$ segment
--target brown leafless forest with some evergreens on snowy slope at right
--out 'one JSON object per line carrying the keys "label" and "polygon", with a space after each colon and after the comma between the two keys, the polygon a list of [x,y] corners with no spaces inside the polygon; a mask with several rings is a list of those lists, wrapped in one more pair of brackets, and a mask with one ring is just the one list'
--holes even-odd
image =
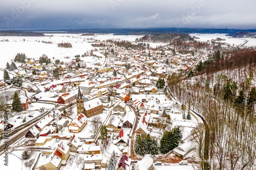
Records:
{"label": "brown leafless forest with some evergreens on snowy slope at right", "polygon": [[[201,66],[190,80],[182,75],[168,78],[174,98],[184,105],[189,102],[208,124],[209,137],[203,124],[191,133],[191,140],[198,145],[200,169],[205,169],[205,160],[209,169],[255,169],[256,52],[217,52]],[[204,156],[206,137],[208,159]]]}

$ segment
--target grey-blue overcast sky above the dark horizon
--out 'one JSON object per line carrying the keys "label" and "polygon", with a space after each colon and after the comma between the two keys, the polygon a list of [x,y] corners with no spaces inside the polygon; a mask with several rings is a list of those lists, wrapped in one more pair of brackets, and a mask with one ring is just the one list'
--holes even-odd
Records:
{"label": "grey-blue overcast sky above the dark horizon", "polygon": [[0,30],[256,29],[255,0],[1,0]]}

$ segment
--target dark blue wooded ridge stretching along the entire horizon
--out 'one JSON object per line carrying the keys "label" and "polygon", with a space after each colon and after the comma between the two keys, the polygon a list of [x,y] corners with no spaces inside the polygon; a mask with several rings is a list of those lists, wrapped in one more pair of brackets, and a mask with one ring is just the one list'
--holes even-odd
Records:
{"label": "dark blue wooded ridge stretching along the entire horizon", "polygon": [[[246,32],[256,33],[256,30],[236,30],[236,29],[194,29],[194,28],[125,28],[125,29],[79,29],[79,30],[27,30],[27,31],[0,31],[0,36],[44,36],[47,34],[81,34],[83,36],[94,34],[114,34],[114,35],[147,35],[147,34],[228,34],[230,36]],[[242,36],[242,35],[239,35]],[[252,35],[250,35],[252,36]]]}

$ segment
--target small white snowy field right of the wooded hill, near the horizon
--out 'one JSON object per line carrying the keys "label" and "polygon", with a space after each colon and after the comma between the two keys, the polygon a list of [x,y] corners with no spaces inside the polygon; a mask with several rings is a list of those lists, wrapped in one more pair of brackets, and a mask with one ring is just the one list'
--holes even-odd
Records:
{"label": "small white snowy field right of the wooded hill, near the horizon", "polygon": [[200,39],[196,39],[197,41],[211,41],[212,39],[216,38],[222,38],[226,39],[224,41],[219,41],[219,42],[226,42],[229,43],[231,46],[234,44],[234,46],[242,45],[243,43],[248,41],[245,46],[256,46],[256,39],[255,38],[232,38],[230,36],[227,36],[227,34],[189,34],[191,37],[195,36]]}

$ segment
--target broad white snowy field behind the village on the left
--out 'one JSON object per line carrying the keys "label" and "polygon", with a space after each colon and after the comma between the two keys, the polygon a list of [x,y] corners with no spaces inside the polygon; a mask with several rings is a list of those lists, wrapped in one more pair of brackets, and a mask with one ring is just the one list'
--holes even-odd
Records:
{"label": "broad white snowy field behind the village on the left", "polygon": [[[50,34],[46,34],[50,35]],[[75,55],[82,55],[87,51],[94,49],[87,38],[95,36],[81,36],[81,34],[51,34],[53,37],[15,37],[15,36],[1,36],[0,37],[0,57],[2,62],[0,68],[6,67],[6,62],[11,62],[17,53],[25,53],[28,58],[39,58],[42,54],[46,54],[50,59],[60,59],[60,61],[68,62],[70,59],[64,57],[74,57]],[[135,35],[96,35],[94,39],[97,40],[127,40],[135,41],[136,38],[142,36]],[[8,39],[7,41],[1,41]],[[41,41],[52,42],[51,44],[43,43]],[[72,48],[58,47],[57,44],[61,42],[69,42]],[[94,52],[95,55],[103,56],[99,52]],[[102,58],[103,60],[104,58]],[[84,61],[91,61],[90,58],[84,58]]]}

